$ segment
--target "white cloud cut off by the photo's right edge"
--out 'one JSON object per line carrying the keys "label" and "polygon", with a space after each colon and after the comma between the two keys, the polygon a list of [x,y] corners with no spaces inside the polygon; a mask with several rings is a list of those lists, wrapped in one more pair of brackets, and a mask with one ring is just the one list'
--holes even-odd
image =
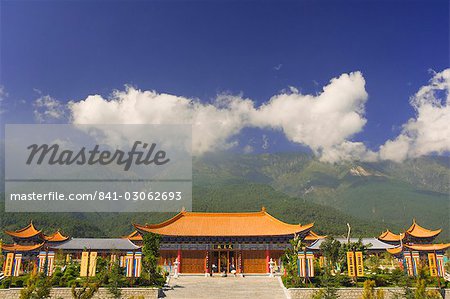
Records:
{"label": "white cloud cut off by the photo's right edge", "polygon": [[428,154],[450,152],[450,69],[433,73],[428,85],[411,97],[416,115],[402,132],[380,147],[383,160],[403,161]]}

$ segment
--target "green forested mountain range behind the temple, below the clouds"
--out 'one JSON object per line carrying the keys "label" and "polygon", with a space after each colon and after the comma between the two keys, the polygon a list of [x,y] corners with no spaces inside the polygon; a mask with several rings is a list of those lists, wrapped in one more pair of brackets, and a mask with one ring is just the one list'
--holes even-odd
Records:
{"label": "green forested mountain range behind the temple, below the clouds", "polygon": [[[257,211],[265,206],[290,223],[314,222],[327,235],[376,236],[406,229],[415,218],[442,228],[450,240],[450,160],[423,157],[403,163],[324,163],[309,154],[230,153],[193,159],[193,210]],[[3,201],[0,202],[3,205]],[[5,213],[0,227],[17,229],[30,219],[46,232],[77,237],[117,237],[132,223],[155,223],[174,213]],[[5,237],[3,235],[3,237]]]}

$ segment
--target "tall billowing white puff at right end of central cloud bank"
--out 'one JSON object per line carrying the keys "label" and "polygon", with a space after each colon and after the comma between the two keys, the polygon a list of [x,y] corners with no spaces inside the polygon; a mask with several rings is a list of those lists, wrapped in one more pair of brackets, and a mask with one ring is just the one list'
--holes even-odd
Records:
{"label": "tall billowing white puff at right end of central cloud bank", "polygon": [[307,145],[333,162],[331,157],[336,155],[329,152],[337,147],[350,150],[348,139],[364,127],[367,98],[362,74],[343,74],[332,79],[317,96],[291,89],[291,93],[272,97],[254,115],[254,125],[281,129],[289,140]]}

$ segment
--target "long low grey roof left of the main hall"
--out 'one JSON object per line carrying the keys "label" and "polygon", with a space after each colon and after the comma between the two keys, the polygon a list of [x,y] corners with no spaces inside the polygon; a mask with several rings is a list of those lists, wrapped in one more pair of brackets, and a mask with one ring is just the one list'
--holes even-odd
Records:
{"label": "long low grey roof left of the main hall", "polygon": [[62,244],[53,245],[51,248],[62,250],[136,250],[141,247],[123,238],[73,238]]}

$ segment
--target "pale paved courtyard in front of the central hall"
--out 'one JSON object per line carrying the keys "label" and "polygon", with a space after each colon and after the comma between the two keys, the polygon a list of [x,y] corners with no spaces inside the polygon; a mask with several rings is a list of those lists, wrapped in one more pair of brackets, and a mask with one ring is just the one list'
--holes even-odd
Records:
{"label": "pale paved courtyard in front of the central hall", "polygon": [[163,298],[286,298],[276,277],[181,276],[169,284],[172,289],[164,290]]}

